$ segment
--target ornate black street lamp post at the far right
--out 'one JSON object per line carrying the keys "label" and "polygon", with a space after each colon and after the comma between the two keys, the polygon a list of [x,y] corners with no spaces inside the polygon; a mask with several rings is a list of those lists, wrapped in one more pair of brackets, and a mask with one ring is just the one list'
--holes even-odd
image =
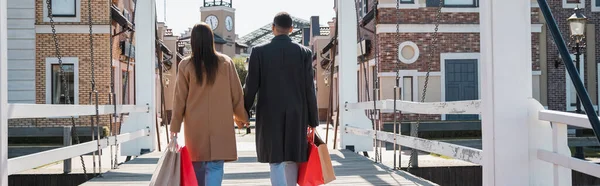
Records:
{"label": "ornate black street lamp post at the far right", "polygon": [[[573,43],[570,44],[571,46],[573,46],[573,50],[575,50],[575,67],[577,68],[577,78],[581,78],[580,74],[582,73],[580,71],[580,56],[582,49],[585,48],[585,43],[583,42],[583,39],[585,38],[585,26],[587,23],[587,17],[585,17],[585,15],[581,13],[581,11],[582,9],[575,8],[575,13],[573,13],[573,15],[571,15],[571,17],[567,19],[567,21],[569,22],[569,30],[571,31],[571,39],[575,45],[573,46]],[[583,111],[581,110],[581,100],[579,99],[578,95],[575,105],[575,112],[578,114],[582,114]],[[582,133],[583,131],[581,129],[575,129],[575,136],[580,137]],[[575,148],[575,157],[579,159],[585,158],[585,155],[583,153],[583,147]]]}

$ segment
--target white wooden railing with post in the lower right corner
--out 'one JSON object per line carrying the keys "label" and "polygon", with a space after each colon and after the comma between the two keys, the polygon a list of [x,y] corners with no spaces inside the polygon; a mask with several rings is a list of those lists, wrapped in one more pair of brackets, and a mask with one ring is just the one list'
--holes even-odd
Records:
{"label": "white wooden railing with post in the lower right corner", "polygon": [[[569,170],[576,170],[584,174],[595,176],[600,178],[600,165],[592,162],[573,158],[559,154],[558,151],[561,145],[567,143],[567,126],[576,126],[586,129],[591,129],[590,121],[588,117],[583,114],[542,110],[539,112],[539,119],[543,121],[549,121],[552,124],[552,151],[541,150],[537,151],[537,158],[554,164],[554,178],[555,185],[559,183],[561,175],[559,175],[560,167],[567,168]],[[560,167],[559,167],[560,166]],[[570,180],[569,180],[570,181]]]}

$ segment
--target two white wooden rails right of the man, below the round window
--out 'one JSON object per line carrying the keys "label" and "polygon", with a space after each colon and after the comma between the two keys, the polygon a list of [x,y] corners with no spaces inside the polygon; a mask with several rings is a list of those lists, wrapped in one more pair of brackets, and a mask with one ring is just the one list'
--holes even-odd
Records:
{"label": "two white wooden rails right of the man, below the round window", "polygon": [[[415,114],[480,114],[479,107],[481,101],[456,101],[456,102],[409,102],[396,101],[396,109],[402,112]],[[394,109],[394,100],[377,101],[376,108],[381,110]],[[348,103],[346,109],[373,109],[373,102]],[[460,159],[463,161],[481,164],[482,150],[465,147],[435,140],[394,134],[391,132],[375,131],[370,129],[361,129],[351,126],[345,126],[345,132],[359,136],[370,136],[378,140],[394,143],[401,146],[410,147],[426,152],[441,154],[444,156]],[[394,140],[395,139],[395,140]]]}

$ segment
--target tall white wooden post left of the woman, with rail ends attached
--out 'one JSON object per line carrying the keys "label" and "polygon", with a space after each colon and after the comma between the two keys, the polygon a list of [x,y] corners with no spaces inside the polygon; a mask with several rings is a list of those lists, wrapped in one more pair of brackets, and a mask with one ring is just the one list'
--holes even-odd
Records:
{"label": "tall white wooden post left of the woman, with rail ends attached", "polygon": [[138,156],[156,146],[156,4],[155,0],[137,1],[135,13],[135,105],[147,106],[146,113],[130,113],[122,132],[149,128],[150,135],[124,143],[123,156]]}

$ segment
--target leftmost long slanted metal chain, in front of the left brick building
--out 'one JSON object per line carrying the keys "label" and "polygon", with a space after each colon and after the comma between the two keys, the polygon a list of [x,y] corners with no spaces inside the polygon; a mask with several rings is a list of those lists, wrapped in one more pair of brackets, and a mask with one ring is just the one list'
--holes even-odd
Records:
{"label": "leftmost long slanted metal chain, in front of the left brick building", "polygon": [[[58,59],[58,65],[59,65],[59,76],[62,80],[62,84],[63,84],[63,90],[64,90],[64,99],[67,105],[71,104],[71,97],[69,95],[69,87],[67,85],[67,79],[65,78],[65,71],[63,68],[63,62],[62,62],[62,56],[60,53],[60,47],[58,45],[58,36],[56,35],[56,28],[55,28],[55,24],[54,24],[54,16],[52,15],[52,1],[51,0],[47,0],[46,1],[46,7],[48,9],[48,18],[50,18],[50,27],[52,28],[52,39],[54,40],[54,48],[55,48],[55,52],[56,52],[56,58]],[[72,129],[71,129],[71,133],[73,135],[73,137],[75,138],[75,143],[79,144],[79,136],[77,135],[77,128],[75,126],[75,118],[73,116],[71,116],[71,124],[72,124]],[[81,165],[83,167],[83,175],[85,176],[85,179],[87,180],[87,170],[85,168],[85,161],[83,160],[83,155],[80,155],[79,158],[81,159]]]}

